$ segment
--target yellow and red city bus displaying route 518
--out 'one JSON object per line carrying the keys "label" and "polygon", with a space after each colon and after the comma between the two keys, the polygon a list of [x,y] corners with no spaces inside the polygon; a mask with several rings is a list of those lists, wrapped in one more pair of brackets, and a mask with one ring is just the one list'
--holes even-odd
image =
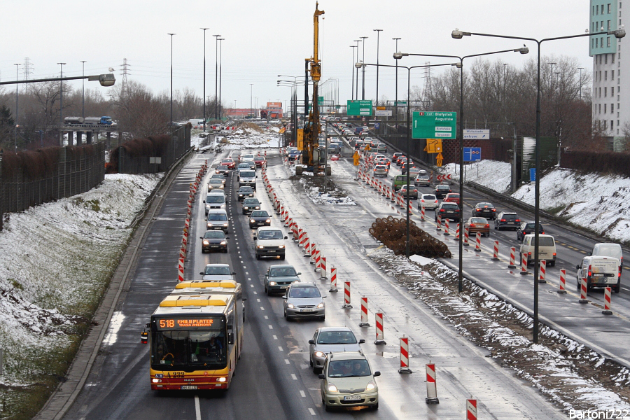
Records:
{"label": "yellow and red city bus displaying route 518", "polygon": [[243,304],[239,283],[221,283],[228,287],[176,288],[151,315],[151,389],[230,387],[244,337]]}

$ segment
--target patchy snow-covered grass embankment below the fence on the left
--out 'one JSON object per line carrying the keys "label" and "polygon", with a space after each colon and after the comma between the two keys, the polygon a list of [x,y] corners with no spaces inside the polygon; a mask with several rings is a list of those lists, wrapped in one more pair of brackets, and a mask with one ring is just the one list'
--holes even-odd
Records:
{"label": "patchy snow-covered grass embankment below the fence on the left", "polygon": [[[97,188],[6,215],[0,231],[0,383],[41,374],[23,355],[62,351],[100,300],[141,210],[163,174],[106,175]],[[20,356],[22,355],[22,356]]]}

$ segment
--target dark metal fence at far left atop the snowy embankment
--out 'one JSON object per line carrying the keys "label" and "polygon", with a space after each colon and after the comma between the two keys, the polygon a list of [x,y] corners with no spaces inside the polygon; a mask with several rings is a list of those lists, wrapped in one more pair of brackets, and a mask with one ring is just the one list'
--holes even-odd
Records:
{"label": "dark metal fence at far left atop the snowy embankment", "polygon": [[58,159],[41,176],[29,175],[32,171],[19,153],[15,160],[18,165],[10,171],[3,170],[3,153],[0,153],[0,230],[5,213],[85,193],[105,179],[104,144],[59,147],[57,152]]}

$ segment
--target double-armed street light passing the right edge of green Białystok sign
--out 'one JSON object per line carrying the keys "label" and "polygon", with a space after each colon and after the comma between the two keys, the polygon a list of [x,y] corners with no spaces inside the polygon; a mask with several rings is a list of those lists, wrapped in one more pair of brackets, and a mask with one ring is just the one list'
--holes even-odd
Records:
{"label": "double-armed street light passing the right edge of green Bia\u0142ystok sign", "polygon": [[[460,225],[463,221],[463,60],[470,57],[481,57],[483,55],[500,54],[503,52],[520,52],[521,54],[527,54],[529,49],[527,47],[517,48],[514,50],[500,50],[492,52],[482,52],[479,54],[464,55],[459,57],[457,55],[437,55],[437,54],[408,54],[406,52],[395,52],[394,58],[400,59],[407,55],[414,55],[419,57],[444,57],[444,58],[456,58],[459,60],[459,214]],[[409,106],[409,104],[407,104]],[[462,232],[463,233],[463,232]],[[459,235],[459,270],[458,270],[458,291],[463,291],[463,235]]]}

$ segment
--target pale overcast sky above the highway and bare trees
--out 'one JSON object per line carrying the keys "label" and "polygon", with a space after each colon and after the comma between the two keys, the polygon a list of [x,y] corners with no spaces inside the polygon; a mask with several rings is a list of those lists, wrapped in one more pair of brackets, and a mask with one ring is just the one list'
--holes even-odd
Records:
{"label": "pale overcast sky above the highway and bare trees", "polygon": [[[519,48],[520,41],[482,36],[451,38],[455,28],[531,38],[583,34],[589,27],[586,0],[322,0],[320,58],[322,81],[339,79],[339,99],[351,96],[353,42],[365,39],[365,62],[377,61],[379,34],[380,64],[395,64],[394,37],[402,52],[469,55]],[[221,54],[222,94],[226,107],[248,108],[251,96],[258,105],[290,99],[290,87],[277,87],[279,74],[303,76],[304,58],[313,55],[315,1],[163,1],[163,0],[20,0],[3,1],[0,25],[2,52],[0,77],[15,80],[13,64],[29,57],[29,78],[59,76],[58,62],[65,62],[64,76],[116,69],[121,80],[123,59],[130,64],[130,80],[147,85],[153,92],[169,90],[171,37],[173,36],[174,90],[190,87],[203,94],[204,31],[206,31],[206,95],[215,92],[216,41],[225,38]],[[360,58],[363,43],[359,43]],[[528,42],[529,55],[507,53],[493,59],[521,66],[535,58],[535,43]],[[590,71],[588,37],[542,44],[542,55],[577,57]],[[440,62],[432,59],[432,63]],[[355,58],[356,61],[356,58]],[[402,65],[424,64],[422,57],[405,57]],[[442,61],[448,62],[448,61]],[[18,68],[19,79],[24,67]],[[442,71],[436,68],[433,71]],[[412,71],[412,85],[423,85],[423,71]],[[399,71],[399,98],[405,97],[406,71]],[[286,78],[285,78],[286,79]],[[118,82],[117,82],[118,83]],[[253,86],[250,86],[253,83]],[[80,88],[80,82],[73,83]],[[379,70],[379,97],[395,96],[395,73]],[[96,87],[87,83],[86,87]],[[10,88],[10,87],[9,87]],[[106,88],[98,87],[106,94]],[[360,87],[359,87],[360,89]],[[251,93],[250,93],[251,92]],[[367,67],[365,99],[376,94],[376,68]],[[360,98],[359,98],[360,99]],[[255,101],[256,99],[254,99]]]}

